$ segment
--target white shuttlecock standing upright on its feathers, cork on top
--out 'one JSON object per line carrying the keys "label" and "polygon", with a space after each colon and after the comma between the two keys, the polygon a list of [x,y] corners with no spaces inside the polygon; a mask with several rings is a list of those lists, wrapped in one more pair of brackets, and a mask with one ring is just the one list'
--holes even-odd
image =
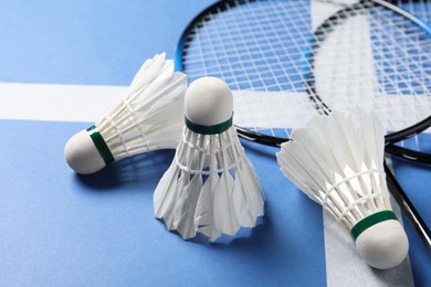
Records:
{"label": "white shuttlecock standing upright on its feathers, cork on top", "polygon": [[263,193],[232,126],[232,106],[228,85],[214,77],[186,92],[182,138],[154,194],[155,216],[185,240],[197,232],[211,242],[233,236],[263,215]]}

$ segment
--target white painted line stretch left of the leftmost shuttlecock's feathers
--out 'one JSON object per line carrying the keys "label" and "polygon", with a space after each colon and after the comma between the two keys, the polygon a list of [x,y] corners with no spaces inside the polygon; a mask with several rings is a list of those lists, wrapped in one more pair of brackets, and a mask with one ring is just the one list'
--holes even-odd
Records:
{"label": "white painted line stretch left of the leftmost shuttlecock's feathers", "polygon": [[0,83],[0,119],[94,123],[111,110],[126,88]]}

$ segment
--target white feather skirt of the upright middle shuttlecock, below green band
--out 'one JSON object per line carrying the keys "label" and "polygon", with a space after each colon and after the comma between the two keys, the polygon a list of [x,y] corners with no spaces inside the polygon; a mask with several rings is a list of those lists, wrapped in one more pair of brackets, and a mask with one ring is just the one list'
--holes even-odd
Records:
{"label": "white feather skirt of the upright middle shuttlecock, below green band", "polygon": [[[169,230],[185,240],[199,232],[213,242],[255,226],[264,213],[264,198],[233,128],[208,136],[185,128],[175,157],[154,201],[156,217]],[[178,180],[167,180],[178,174]]]}

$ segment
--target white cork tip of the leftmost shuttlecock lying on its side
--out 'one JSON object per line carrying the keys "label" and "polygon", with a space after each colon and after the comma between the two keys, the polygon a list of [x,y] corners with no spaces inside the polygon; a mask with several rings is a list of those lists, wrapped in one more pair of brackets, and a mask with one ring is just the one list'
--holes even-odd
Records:
{"label": "white cork tip of the leftmost shuttlecock lying on its side", "polygon": [[64,158],[80,174],[91,174],[106,166],[87,130],[82,130],[69,139]]}

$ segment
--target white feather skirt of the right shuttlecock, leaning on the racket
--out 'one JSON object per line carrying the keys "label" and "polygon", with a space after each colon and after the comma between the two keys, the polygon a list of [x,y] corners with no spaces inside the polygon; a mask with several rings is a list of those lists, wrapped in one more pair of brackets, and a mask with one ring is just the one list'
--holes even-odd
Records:
{"label": "white feather skirt of the right shuttlecock, leaning on the racket", "polygon": [[286,178],[351,227],[386,206],[382,159],[376,158],[382,149],[381,124],[357,108],[316,116],[293,130],[277,161]]}

